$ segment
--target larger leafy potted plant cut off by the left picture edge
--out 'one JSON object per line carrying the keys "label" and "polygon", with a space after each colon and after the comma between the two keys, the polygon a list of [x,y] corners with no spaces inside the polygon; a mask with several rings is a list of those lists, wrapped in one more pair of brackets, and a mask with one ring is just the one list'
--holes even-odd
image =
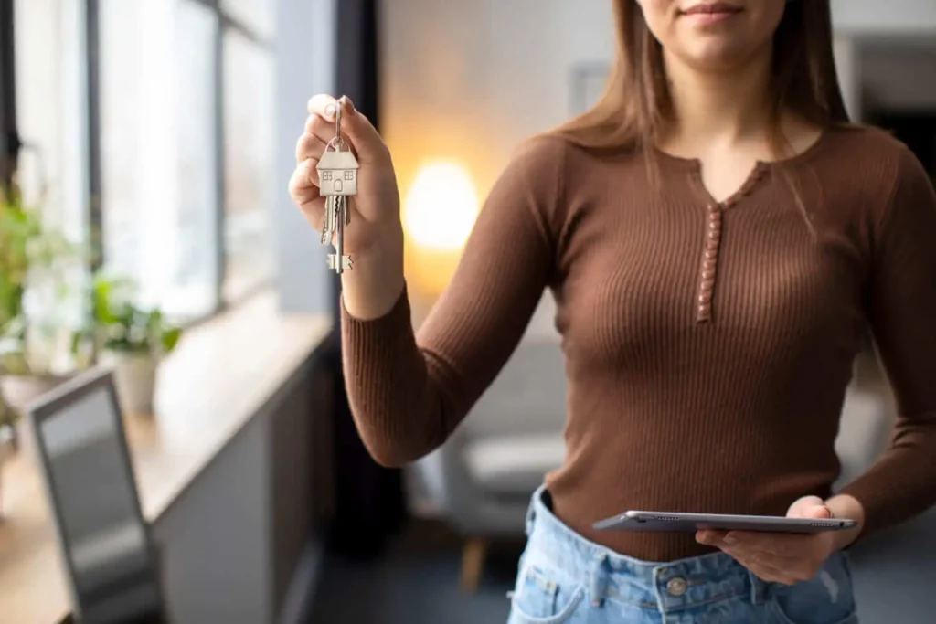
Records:
{"label": "larger leafy potted plant cut off by the left picture edge", "polygon": [[79,258],[15,189],[0,199],[0,391],[14,415],[67,378],[55,368],[65,327],[56,314]]}

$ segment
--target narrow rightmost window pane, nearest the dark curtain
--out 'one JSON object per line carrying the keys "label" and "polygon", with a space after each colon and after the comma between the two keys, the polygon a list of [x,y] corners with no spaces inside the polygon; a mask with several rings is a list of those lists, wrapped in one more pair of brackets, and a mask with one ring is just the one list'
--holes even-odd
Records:
{"label": "narrow rightmost window pane, nearest the dark curtain", "polygon": [[236,31],[225,54],[224,297],[237,300],[273,275],[273,58]]}

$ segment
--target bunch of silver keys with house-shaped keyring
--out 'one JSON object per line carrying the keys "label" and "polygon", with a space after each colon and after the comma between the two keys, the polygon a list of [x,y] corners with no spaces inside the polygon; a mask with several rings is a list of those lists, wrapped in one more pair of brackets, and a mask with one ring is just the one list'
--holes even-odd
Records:
{"label": "bunch of silver keys with house-shaped keyring", "polygon": [[322,244],[332,244],[329,268],[341,275],[353,267],[351,256],[344,254],[344,226],[351,223],[348,196],[358,195],[358,159],[342,138],[342,107],[335,107],[335,138],[325,146],[318,165],[318,188],[325,201],[325,224],[322,225]]}

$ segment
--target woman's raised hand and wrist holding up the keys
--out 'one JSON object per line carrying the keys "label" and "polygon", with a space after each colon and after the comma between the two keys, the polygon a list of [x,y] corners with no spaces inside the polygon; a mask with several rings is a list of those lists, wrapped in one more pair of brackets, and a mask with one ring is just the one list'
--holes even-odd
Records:
{"label": "woman's raised hand and wrist holding up the keys", "polygon": [[[302,214],[321,233],[326,198],[318,189],[315,166],[335,137],[335,111],[341,107],[342,138],[358,158],[358,195],[349,197],[351,223],[344,228],[344,253],[354,268],[342,273],[344,309],[358,319],[389,312],[400,299],[403,280],[403,234],[400,191],[390,152],[371,122],[349,99],[315,95],[309,118],[296,144],[296,169],[289,193]],[[332,241],[333,243],[334,241]]]}

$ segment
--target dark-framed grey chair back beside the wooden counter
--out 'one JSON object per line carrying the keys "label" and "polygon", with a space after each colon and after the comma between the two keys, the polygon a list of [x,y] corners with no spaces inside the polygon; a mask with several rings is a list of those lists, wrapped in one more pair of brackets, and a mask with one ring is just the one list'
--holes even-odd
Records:
{"label": "dark-framed grey chair back beside the wooden counter", "polygon": [[28,408],[75,619],[165,619],[109,370],[81,374]]}

